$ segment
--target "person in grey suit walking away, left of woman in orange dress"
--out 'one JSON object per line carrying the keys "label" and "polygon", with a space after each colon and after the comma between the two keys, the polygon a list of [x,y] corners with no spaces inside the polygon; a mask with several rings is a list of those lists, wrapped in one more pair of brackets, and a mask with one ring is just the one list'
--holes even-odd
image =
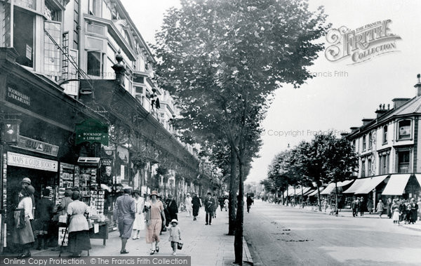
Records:
{"label": "person in grey suit walking away, left of woman in orange dress", "polygon": [[116,199],[114,206],[114,220],[117,220],[121,238],[120,254],[127,254],[127,239],[131,237],[133,223],[135,222],[136,206],[131,197],[131,187],[123,187],[123,195]]}

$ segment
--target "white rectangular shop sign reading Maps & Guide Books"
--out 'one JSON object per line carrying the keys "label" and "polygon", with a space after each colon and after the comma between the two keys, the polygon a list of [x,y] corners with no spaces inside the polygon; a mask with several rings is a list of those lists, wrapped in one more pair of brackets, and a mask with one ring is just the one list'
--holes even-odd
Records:
{"label": "white rectangular shop sign reading Maps & Guide Books", "polygon": [[51,172],[58,171],[58,161],[41,159],[15,152],[7,152],[7,164],[8,166],[18,166]]}

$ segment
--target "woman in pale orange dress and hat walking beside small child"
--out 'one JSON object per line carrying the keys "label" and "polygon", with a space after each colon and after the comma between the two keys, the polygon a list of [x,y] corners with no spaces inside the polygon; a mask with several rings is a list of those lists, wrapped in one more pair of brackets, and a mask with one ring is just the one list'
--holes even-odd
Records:
{"label": "woman in pale orange dress and hat walking beside small child", "polygon": [[151,200],[145,203],[145,210],[147,210],[146,243],[151,244],[150,255],[154,255],[155,252],[159,252],[159,233],[162,224],[166,223],[166,218],[162,202],[158,200],[158,192],[153,190],[150,197]]}

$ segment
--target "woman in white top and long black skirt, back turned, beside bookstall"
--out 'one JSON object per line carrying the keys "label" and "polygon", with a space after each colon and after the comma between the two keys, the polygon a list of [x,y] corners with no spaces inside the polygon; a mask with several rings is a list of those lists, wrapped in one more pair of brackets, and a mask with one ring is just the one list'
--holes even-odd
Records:
{"label": "woman in white top and long black skirt, back turned, beside bookstall", "polygon": [[79,201],[79,191],[72,193],[72,202],[67,206],[69,215],[69,240],[67,250],[76,258],[81,256],[81,251],[91,249],[91,239],[89,238],[89,225],[85,215],[88,213],[88,206]]}

